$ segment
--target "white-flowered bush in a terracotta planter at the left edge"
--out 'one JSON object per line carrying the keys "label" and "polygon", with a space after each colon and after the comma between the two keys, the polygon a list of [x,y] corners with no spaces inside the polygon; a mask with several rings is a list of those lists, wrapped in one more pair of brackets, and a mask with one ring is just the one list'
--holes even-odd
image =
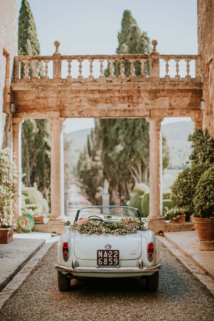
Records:
{"label": "white-flowered bush in a terracotta planter at the left edge", "polygon": [[14,157],[10,148],[0,151],[0,243],[13,239],[14,198],[19,179]]}

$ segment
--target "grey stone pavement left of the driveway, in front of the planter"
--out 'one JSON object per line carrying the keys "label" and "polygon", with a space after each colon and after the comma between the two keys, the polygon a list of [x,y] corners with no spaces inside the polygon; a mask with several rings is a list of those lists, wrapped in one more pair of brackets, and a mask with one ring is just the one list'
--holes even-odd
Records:
{"label": "grey stone pavement left of the driveway, in front of the planter", "polygon": [[22,239],[15,236],[10,243],[0,244],[0,290],[44,243],[44,239]]}

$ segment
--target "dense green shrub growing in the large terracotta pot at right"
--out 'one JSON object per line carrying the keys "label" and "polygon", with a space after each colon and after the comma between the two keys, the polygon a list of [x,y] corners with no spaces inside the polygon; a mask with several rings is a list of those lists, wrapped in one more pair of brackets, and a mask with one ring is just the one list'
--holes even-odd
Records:
{"label": "dense green shrub growing in the large terracotta pot at right", "polygon": [[214,164],[201,175],[195,190],[194,216],[214,218]]}

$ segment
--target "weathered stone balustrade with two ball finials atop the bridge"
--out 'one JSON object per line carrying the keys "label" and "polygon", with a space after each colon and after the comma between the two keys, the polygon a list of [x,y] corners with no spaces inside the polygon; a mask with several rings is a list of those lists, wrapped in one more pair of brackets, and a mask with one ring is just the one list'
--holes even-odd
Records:
{"label": "weathered stone balustrade with two ball finials atop the bridge", "polygon": [[[157,41],[153,40],[153,44]],[[76,79],[84,81],[103,82],[112,78],[129,78],[130,81],[159,81],[164,82],[199,82],[200,81],[200,56],[199,55],[159,55],[154,45],[153,52],[149,55],[81,55],[61,56],[58,50],[59,42],[55,41],[56,51],[53,56],[17,56],[14,58],[14,82],[51,81],[51,79],[65,78],[65,82],[75,82]],[[193,64],[190,62],[193,61]],[[43,65],[43,75],[38,75],[39,63]],[[180,75],[180,64],[185,76]],[[23,72],[21,77],[21,63]],[[65,64],[64,64],[65,63]],[[160,64],[165,65],[160,77]],[[32,76],[29,79],[29,67]],[[84,65],[84,67],[83,67]],[[62,68],[63,66],[63,68]],[[62,69],[66,76],[62,76]],[[66,70],[65,70],[66,69]],[[84,69],[84,76],[83,76]],[[191,70],[192,69],[192,70]],[[194,70],[193,70],[194,69]],[[105,77],[107,70],[107,77]],[[137,77],[136,77],[137,70]],[[172,71],[174,77],[170,76]],[[194,74],[193,76],[190,76]],[[51,74],[51,76],[50,76]],[[67,77],[67,78],[66,78]],[[22,78],[22,79],[21,79]]]}

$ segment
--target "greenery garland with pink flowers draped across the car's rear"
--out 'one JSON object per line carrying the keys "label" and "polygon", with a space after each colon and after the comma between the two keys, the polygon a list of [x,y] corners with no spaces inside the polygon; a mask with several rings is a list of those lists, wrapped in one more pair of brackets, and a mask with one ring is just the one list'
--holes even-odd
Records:
{"label": "greenery garland with pink flowers draped across the car's rear", "polygon": [[135,219],[134,217],[122,218],[119,221],[103,221],[98,222],[95,219],[80,218],[78,222],[70,224],[70,221],[65,222],[70,230],[79,232],[80,234],[112,234],[126,235],[127,233],[137,233],[138,230],[149,230],[144,226],[145,221]]}

